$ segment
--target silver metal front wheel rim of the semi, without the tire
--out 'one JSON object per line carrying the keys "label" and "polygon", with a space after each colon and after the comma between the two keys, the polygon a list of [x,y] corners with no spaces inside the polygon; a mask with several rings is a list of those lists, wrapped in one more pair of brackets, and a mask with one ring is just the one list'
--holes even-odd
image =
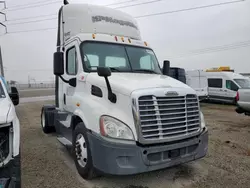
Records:
{"label": "silver metal front wheel rim of the semi, without the tire", "polygon": [[87,143],[82,134],[78,134],[76,137],[76,158],[81,167],[85,167],[87,164]]}

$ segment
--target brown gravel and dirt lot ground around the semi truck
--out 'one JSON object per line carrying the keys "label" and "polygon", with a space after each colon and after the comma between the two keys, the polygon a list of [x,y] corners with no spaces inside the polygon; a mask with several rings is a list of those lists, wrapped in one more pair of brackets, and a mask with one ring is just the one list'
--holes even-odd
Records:
{"label": "brown gravel and dirt lot ground around the semi truck", "polygon": [[202,104],[209,128],[209,151],[205,158],[140,175],[85,181],[56,137],[42,133],[40,110],[46,103],[49,101],[17,106],[24,188],[250,187],[250,117],[238,115],[233,106]]}

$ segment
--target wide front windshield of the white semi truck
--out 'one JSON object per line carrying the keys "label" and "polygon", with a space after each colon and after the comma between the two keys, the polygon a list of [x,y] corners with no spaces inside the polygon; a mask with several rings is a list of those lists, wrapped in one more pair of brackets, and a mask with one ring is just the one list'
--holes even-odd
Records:
{"label": "wide front windshield of the white semi truck", "polygon": [[141,72],[161,74],[152,50],[128,45],[88,42],[81,46],[85,68],[93,72],[98,66],[110,67],[112,72]]}

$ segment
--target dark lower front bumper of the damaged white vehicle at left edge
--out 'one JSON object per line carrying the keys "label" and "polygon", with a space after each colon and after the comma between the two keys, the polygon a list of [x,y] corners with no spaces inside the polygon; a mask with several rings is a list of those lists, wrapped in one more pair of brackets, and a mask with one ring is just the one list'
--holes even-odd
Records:
{"label": "dark lower front bumper of the damaged white vehicle at left edge", "polygon": [[0,168],[0,188],[21,187],[21,165],[20,156],[16,156],[9,163]]}

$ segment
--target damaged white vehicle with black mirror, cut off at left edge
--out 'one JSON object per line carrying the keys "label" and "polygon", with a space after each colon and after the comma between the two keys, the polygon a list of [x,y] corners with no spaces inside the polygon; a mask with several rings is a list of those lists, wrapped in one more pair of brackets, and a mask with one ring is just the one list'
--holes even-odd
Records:
{"label": "damaged white vehicle with black mirror, cut off at left edge", "polygon": [[0,185],[4,188],[21,187],[20,124],[14,106],[17,101],[18,95],[8,93],[7,83],[0,76]]}

